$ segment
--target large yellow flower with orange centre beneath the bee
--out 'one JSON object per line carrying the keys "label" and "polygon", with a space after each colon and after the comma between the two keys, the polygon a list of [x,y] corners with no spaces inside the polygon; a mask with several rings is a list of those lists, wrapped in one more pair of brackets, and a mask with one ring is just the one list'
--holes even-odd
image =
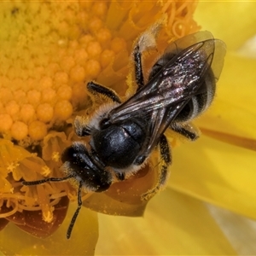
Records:
{"label": "large yellow flower with orange centre beneath the bee", "polygon": [[[241,45],[255,33],[255,18],[253,3],[243,4],[199,4],[195,20],[223,39],[229,49],[216,100],[197,121],[203,135],[196,143],[173,149],[170,182],[148,203],[144,218],[98,214],[97,254],[241,253],[240,244],[227,235],[227,221],[221,224],[224,218],[205,202],[255,218],[255,61],[238,55]],[[84,195],[85,207],[70,241],[65,234],[76,204],[67,212],[67,196],[76,200],[76,189],[69,183],[25,187],[20,179],[62,176],[61,152],[78,139],[71,129],[73,119],[98,104],[89,100],[84,81],[96,79],[124,98],[137,35],[163,13],[168,15],[170,30],[160,35],[162,48],[167,40],[195,32],[195,3],[52,1],[1,3],[1,7],[0,214],[6,218],[0,218],[0,229],[9,219],[35,236],[55,232],[48,238],[34,238],[8,224],[0,232],[0,250],[5,254],[91,255],[98,223],[96,212],[85,207],[142,215],[146,204],[139,200],[141,191],[154,183],[154,172],[144,169],[106,193]],[[236,19],[227,20],[227,12]]]}

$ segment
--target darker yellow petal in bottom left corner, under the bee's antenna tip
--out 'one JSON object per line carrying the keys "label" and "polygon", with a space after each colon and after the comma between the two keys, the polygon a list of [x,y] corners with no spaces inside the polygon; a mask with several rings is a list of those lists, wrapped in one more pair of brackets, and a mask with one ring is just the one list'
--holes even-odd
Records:
{"label": "darker yellow petal in bottom left corner, under the bee's antenna tip", "polygon": [[76,205],[73,204],[61,227],[45,239],[26,236],[15,224],[8,224],[0,232],[0,250],[4,255],[93,255],[98,236],[95,212],[83,208],[71,238],[66,238],[67,227],[75,209]]}

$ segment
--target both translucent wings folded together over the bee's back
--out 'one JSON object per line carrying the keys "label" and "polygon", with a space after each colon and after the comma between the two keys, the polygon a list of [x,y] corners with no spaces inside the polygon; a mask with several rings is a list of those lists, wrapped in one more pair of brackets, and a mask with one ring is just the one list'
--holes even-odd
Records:
{"label": "both translucent wings folded together over the bee's back", "polygon": [[156,69],[157,73],[148,84],[110,112],[111,122],[136,116],[150,119],[148,152],[191,97],[198,93],[206,74],[211,72],[218,80],[224,64],[225,45],[212,38],[210,32],[198,32],[177,40],[168,52],[172,57],[164,55],[166,60],[157,62],[161,68]]}

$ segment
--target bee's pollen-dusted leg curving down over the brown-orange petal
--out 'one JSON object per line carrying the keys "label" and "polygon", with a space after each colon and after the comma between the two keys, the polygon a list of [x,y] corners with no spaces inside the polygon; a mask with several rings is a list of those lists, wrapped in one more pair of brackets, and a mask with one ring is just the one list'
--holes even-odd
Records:
{"label": "bee's pollen-dusted leg curving down over the brown-orange petal", "polygon": [[153,189],[149,189],[146,193],[142,195],[143,201],[148,201],[152,198],[160,189],[163,189],[166,185],[166,181],[169,177],[170,171],[169,166],[172,163],[172,154],[166,136],[163,134],[160,137],[160,157],[161,157],[161,168],[158,173],[157,183]]}

